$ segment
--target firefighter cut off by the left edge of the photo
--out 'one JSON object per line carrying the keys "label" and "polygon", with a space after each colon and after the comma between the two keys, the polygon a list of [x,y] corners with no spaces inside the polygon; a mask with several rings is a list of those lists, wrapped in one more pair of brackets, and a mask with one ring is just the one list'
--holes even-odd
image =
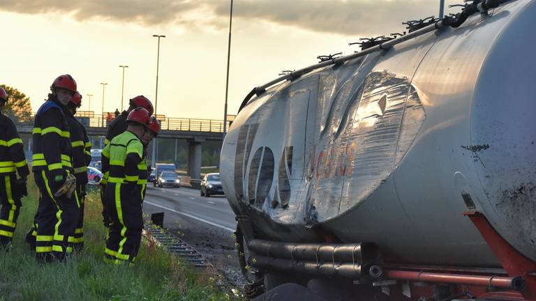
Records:
{"label": "firefighter cut off by the left edge of the photo", "polygon": [[20,199],[27,195],[30,173],[15,123],[1,113],[6,102],[8,95],[0,87],[0,248],[8,247],[13,240],[22,205]]}

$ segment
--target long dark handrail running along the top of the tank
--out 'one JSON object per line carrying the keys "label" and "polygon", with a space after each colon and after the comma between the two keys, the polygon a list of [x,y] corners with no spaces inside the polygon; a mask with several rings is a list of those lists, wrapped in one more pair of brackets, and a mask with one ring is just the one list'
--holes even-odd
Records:
{"label": "long dark handrail running along the top of the tank", "polygon": [[512,0],[473,1],[472,4],[468,5],[468,8],[470,8],[470,9],[468,9],[468,8],[464,9],[462,11],[462,13],[459,14],[458,17],[444,17],[441,20],[439,20],[438,22],[435,22],[433,24],[430,24],[429,26],[423,27],[422,29],[412,31],[412,32],[406,34],[405,36],[399,36],[398,38],[394,38],[392,40],[388,40],[388,41],[386,41],[384,43],[381,43],[379,45],[375,45],[373,47],[367,48],[367,49],[363,50],[362,52],[356,52],[355,54],[350,54],[348,56],[341,56],[341,57],[338,57],[338,58],[335,58],[335,59],[322,61],[322,62],[317,63],[315,65],[310,65],[310,66],[308,66],[306,68],[302,68],[302,69],[290,72],[290,73],[288,73],[286,75],[283,75],[281,77],[278,77],[278,78],[272,80],[271,82],[268,82],[267,84],[264,84],[262,86],[258,86],[258,87],[253,88],[253,90],[250,93],[248,93],[248,95],[246,95],[246,98],[244,98],[244,100],[242,101],[242,103],[241,103],[241,105],[240,105],[240,107],[238,109],[238,112],[240,112],[242,109],[244,109],[244,107],[246,107],[246,105],[248,104],[249,100],[251,100],[251,98],[253,98],[253,95],[259,96],[262,93],[265,93],[266,89],[269,88],[270,86],[274,86],[275,84],[278,84],[280,82],[284,82],[286,80],[297,79],[301,75],[304,75],[304,74],[306,74],[308,72],[311,72],[311,71],[319,69],[319,68],[324,68],[324,67],[327,67],[329,65],[336,65],[336,64],[344,63],[344,62],[350,61],[352,59],[357,59],[359,57],[366,56],[368,54],[372,54],[373,52],[389,49],[389,48],[393,47],[394,45],[403,43],[403,42],[405,42],[407,40],[410,40],[412,38],[416,38],[418,36],[422,36],[422,35],[424,35],[426,33],[431,32],[431,31],[435,31],[437,29],[445,28],[446,26],[452,26],[454,28],[459,27],[461,24],[463,24],[463,22],[465,22],[467,20],[469,15],[472,15],[473,13],[476,13],[476,12],[485,13],[490,8],[496,8],[500,4],[508,2],[508,1],[512,1]]}

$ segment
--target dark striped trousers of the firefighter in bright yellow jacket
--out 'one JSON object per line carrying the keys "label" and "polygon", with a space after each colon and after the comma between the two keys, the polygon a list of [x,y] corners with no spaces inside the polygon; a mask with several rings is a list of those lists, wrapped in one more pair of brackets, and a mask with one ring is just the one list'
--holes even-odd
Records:
{"label": "dark striped trousers of the firefighter in bright yellow jacket", "polygon": [[110,228],[105,261],[134,263],[142,240],[141,185],[107,183],[105,205]]}

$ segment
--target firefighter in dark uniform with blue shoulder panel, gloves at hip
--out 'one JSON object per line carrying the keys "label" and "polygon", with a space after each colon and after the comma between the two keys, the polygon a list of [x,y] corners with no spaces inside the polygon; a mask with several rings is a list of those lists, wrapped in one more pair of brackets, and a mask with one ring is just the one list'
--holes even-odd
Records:
{"label": "firefighter in dark uniform with blue shoulder panel, gloves at hip", "polygon": [[40,192],[36,231],[36,258],[40,263],[63,261],[73,252],[80,203],[74,191],[70,130],[63,109],[76,88],[70,75],[54,79],[52,93],[38,109],[34,121],[31,169]]}

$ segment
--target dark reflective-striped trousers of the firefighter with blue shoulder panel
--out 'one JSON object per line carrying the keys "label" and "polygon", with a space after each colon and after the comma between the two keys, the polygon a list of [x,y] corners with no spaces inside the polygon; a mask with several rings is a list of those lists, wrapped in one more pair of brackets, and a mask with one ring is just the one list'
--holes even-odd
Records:
{"label": "dark reflective-striped trousers of the firefighter with blue shoulder panel", "polygon": [[40,191],[37,209],[36,258],[49,262],[54,258],[63,261],[73,252],[75,229],[80,217],[77,192],[73,196],[54,197],[54,189],[45,171],[34,173]]}

